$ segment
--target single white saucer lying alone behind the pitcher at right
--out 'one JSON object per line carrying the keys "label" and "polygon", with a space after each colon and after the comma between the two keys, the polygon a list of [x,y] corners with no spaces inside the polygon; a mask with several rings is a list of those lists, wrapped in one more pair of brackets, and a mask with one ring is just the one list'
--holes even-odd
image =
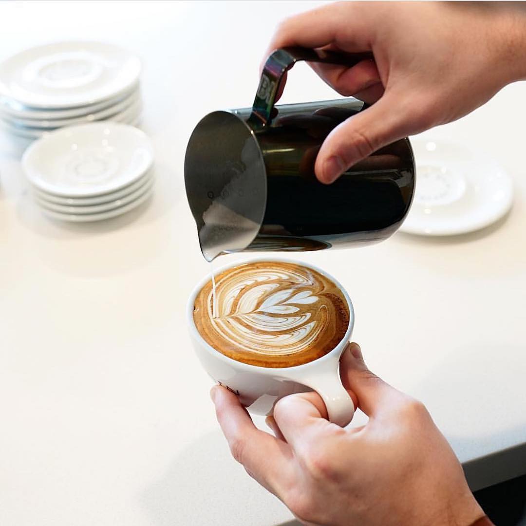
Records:
{"label": "single white saucer lying alone behind the pitcher at right", "polygon": [[508,212],[513,184],[495,159],[443,140],[411,139],[411,145],[417,183],[400,231],[425,236],[466,234]]}

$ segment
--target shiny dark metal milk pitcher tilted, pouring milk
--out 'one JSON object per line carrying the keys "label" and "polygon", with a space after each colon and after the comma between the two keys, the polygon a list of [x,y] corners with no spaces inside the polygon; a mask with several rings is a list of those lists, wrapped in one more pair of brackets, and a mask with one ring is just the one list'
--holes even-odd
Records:
{"label": "shiny dark metal milk pitcher tilted, pouring milk", "polygon": [[321,250],[382,241],[406,217],[414,191],[409,139],[381,148],[332,183],[314,162],[323,140],[364,104],[354,98],[275,106],[297,60],[353,65],[363,54],[278,49],[250,109],[213,112],[188,142],[185,185],[208,261],[244,250]]}

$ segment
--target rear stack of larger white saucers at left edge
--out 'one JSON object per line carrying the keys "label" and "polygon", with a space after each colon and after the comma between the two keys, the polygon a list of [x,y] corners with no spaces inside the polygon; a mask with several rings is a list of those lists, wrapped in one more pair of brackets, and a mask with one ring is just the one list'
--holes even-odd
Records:
{"label": "rear stack of larger white saucers at left edge", "polygon": [[0,63],[0,123],[14,135],[98,120],[137,124],[140,60],[98,42],[33,47]]}

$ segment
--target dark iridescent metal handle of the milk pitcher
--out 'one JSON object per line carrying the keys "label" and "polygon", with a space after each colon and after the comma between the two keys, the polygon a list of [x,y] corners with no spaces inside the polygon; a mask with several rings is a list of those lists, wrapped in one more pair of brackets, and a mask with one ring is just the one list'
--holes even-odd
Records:
{"label": "dark iridescent metal handle of the milk pitcher", "polygon": [[339,64],[351,67],[361,62],[361,60],[372,58],[371,53],[340,53],[309,49],[306,47],[283,47],[276,49],[267,58],[267,62],[263,67],[256,98],[252,105],[252,113],[248,118],[250,126],[258,129],[270,124],[272,108],[276,102],[276,94],[281,79],[285,72],[294,66],[298,60],[324,62],[326,64]]}

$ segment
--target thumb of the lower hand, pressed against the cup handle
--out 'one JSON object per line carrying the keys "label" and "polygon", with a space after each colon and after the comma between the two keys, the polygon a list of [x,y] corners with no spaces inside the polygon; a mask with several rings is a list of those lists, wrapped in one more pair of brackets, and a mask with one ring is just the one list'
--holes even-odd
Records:
{"label": "thumb of the lower hand, pressed against the cup handle", "polygon": [[369,417],[389,411],[404,398],[403,393],[372,373],[363,361],[358,343],[350,343],[340,361],[340,376],[346,389],[358,397],[358,407]]}

